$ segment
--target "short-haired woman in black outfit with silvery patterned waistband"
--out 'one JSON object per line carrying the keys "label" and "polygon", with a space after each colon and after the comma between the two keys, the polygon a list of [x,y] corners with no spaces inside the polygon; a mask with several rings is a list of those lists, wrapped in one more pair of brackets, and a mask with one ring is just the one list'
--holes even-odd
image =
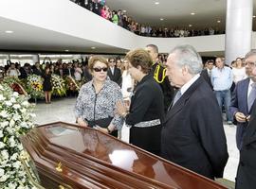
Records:
{"label": "short-haired woman in black outfit with silvery patterned waistband", "polygon": [[130,143],[159,155],[161,124],[164,116],[163,94],[155,78],[150,75],[152,59],[144,49],[130,51],[125,60],[137,86],[131,98],[129,112],[118,102],[117,112],[126,119],[130,129]]}

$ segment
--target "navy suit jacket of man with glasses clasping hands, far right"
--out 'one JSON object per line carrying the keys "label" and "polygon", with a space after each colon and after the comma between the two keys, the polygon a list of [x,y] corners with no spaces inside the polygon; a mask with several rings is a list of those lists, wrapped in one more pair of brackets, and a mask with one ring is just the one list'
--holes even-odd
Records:
{"label": "navy suit jacket of man with glasses clasping hands, far right", "polygon": [[[236,112],[243,112],[248,115],[247,108],[247,91],[248,91],[249,78],[243,79],[237,82],[236,87],[232,93],[231,105],[229,107],[229,112],[234,115]],[[236,128],[236,146],[238,149],[242,147],[242,141],[247,129],[247,123],[239,123],[233,118],[233,123],[237,125]]]}

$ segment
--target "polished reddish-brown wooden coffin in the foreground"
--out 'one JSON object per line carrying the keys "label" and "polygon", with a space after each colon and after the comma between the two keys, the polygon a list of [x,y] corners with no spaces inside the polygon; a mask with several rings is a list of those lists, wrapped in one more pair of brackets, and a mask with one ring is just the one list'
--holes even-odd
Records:
{"label": "polished reddish-brown wooden coffin in the foreground", "polygon": [[226,188],[96,129],[57,122],[21,141],[39,175],[70,188]]}

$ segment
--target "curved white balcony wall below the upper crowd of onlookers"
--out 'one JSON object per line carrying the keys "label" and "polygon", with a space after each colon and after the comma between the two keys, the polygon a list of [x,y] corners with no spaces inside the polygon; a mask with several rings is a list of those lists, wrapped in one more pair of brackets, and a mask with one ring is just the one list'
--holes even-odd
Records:
{"label": "curved white balcony wall below the upper crowd of onlookers", "polygon": [[[199,52],[225,50],[225,35],[169,39],[140,37],[69,0],[1,0],[0,17],[127,50],[149,43],[158,45],[162,53],[168,53],[181,43],[192,44]],[[255,38],[253,33],[254,48]]]}

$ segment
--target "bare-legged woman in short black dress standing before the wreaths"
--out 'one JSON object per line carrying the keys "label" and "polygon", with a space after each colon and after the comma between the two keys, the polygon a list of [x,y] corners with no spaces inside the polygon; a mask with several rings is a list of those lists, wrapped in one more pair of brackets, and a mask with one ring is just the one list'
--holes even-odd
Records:
{"label": "bare-legged woman in short black dress standing before the wreaths", "polygon": [[46,67],[43,78],[44,78],[43,90],[45,92],[46,104],[50,104],[52,85],[51,85],[51,72],[49,67]]}

